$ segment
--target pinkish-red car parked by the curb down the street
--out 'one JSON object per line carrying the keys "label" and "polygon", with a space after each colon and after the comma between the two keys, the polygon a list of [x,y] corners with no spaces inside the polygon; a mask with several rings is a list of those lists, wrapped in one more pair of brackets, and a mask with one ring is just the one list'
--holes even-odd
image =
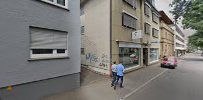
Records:
{"label": "pinkish-red car parked by the curb down the street", "polygon": [[177,67],[176,57],[164,57],[161,62],[161,67],[175,69],[175,67]]}

